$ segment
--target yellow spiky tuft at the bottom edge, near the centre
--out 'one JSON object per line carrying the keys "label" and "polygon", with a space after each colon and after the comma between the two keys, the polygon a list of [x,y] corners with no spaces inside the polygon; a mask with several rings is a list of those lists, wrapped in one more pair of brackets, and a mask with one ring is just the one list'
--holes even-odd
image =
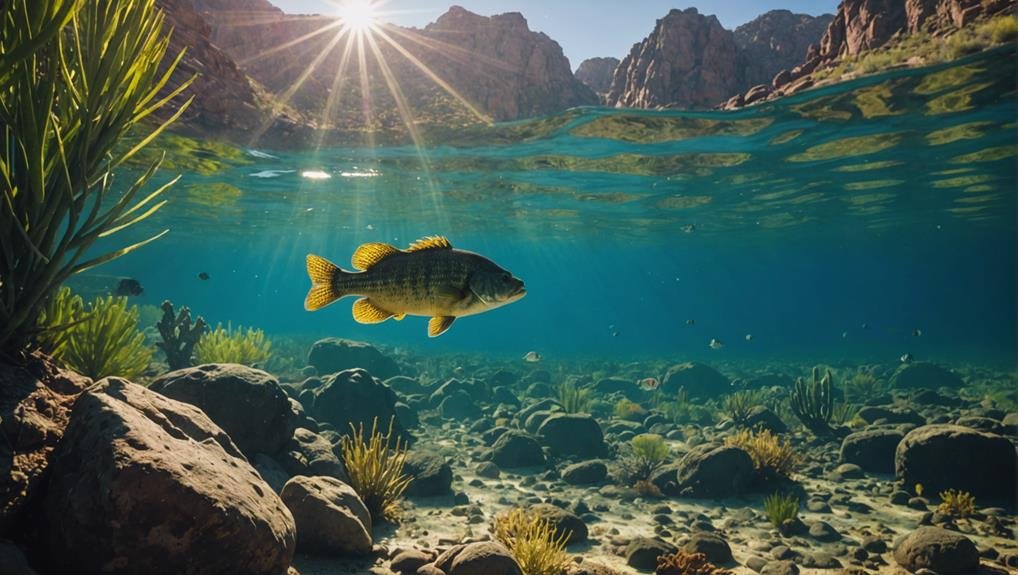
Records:
{"label": "yellow spiky tuft at the bottom edge, near the centre", "polygon": [[492,534],[512,553],[524,575],[561,575],[569,566],[566,541],[570,532],[556,536],[555,526],[541,515],[514,508],[495,518]]}

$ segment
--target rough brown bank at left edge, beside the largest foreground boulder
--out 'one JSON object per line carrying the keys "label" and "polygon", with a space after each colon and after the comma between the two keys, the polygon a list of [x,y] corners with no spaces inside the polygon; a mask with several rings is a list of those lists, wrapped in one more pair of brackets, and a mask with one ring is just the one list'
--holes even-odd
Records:
{"label": "rough brown bank at left edge, beside the largest foreground boulder", "polygon": [[74,400],[92,380],[36,353],[23,364],[0,361],[0,533],[17,522],[43,483]]}

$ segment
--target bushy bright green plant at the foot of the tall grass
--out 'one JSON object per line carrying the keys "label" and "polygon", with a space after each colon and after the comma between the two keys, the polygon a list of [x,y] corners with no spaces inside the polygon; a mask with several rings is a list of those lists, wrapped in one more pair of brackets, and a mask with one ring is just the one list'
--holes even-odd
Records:
{"label": "bushy bright green plant at the foot of the tall grass", "polygon": [[[41,321],[43,348],[65,366],[100,380],[133,378],[149,366],[152,349],[137,329],[137,306],[126,297],[99,297],[88,309],[67,288],[57,292]],[[61,326],[57,328],[58,326]]]}

